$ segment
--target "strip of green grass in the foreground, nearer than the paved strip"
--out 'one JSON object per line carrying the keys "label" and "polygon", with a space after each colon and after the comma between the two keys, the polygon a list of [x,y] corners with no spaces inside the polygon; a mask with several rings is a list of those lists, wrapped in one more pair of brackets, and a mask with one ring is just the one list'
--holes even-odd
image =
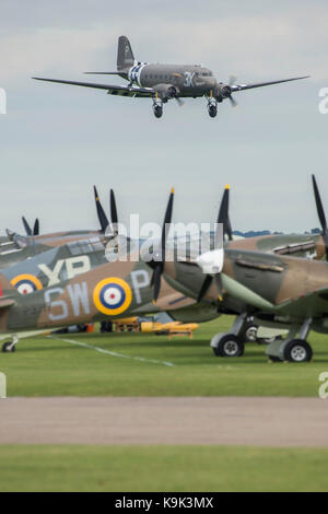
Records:
{"label": "strip of green grass in the foreground, nearer than the paved strip", "polygon": [[327,448],[0,446],[0,491],[327,491]]}

